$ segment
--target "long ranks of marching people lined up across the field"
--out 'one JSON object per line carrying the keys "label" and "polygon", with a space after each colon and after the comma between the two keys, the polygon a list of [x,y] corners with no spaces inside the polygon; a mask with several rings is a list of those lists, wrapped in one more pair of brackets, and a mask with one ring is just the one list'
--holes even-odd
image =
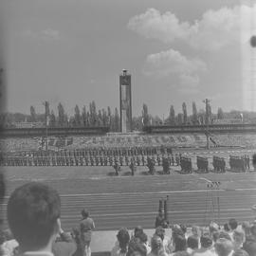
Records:
{"label": "long ranks of marching people lined up across the field", "polygon": [[[171,174],[171,167],[180,167],[183,174],[247,172],[250,170],[248,155],[229,155],[229,159],[213,155],[212,162],[200,155],[196,159],[173,153],[170,147],[134,147],[134,148],[92,148],[84,150],[33,151],[22,153],[1,153],[1,166],[111,166],[119,175],[122,166],[128,166],[132,175],[137,166],[148,168],[149,174],[155,174],[155,166],[161,166],[163,174]],[[210,168],[212,164],[212,168]],[[228,168],[229,164],[229,168]]]}

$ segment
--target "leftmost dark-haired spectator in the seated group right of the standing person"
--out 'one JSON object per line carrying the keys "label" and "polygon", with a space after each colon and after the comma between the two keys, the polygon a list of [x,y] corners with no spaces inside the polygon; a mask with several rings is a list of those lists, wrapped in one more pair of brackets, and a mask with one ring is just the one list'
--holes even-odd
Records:
{"label": "leftmost dark-haired spectator in the seated group right of the standing person", "polygon": [[111,256],[125,256],[128,251],[128,245],[130,242],[130,235],[127,229],[121,228],[119,229],[119,233],[117,234],[118,243],[116,243],[115,247],[112,248]]}

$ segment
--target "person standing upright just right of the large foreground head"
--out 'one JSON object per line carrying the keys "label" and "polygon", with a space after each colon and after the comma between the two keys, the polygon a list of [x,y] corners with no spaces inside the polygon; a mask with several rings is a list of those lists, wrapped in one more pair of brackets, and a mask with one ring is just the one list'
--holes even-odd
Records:
{"label": "person standing upright just right of the large foreground head", "polygon": [[92,239],[92,231],[95,229],[95,224],[92,218],[89,217],[89,211],[82,210],[82,221],[80,223],[82,250],[84,256],[91,256],[90,243]]}

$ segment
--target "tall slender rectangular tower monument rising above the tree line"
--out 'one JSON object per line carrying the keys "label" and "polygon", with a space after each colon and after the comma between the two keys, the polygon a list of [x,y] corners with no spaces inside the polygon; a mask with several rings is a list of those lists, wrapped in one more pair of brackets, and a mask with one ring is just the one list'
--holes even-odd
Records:
{"label": "tall slender rectangular tower monument rising above the tree line", "polygon": [[119,76],[120,130],[122,133],[132,131],[132,90],[131,75],[123,69]]}

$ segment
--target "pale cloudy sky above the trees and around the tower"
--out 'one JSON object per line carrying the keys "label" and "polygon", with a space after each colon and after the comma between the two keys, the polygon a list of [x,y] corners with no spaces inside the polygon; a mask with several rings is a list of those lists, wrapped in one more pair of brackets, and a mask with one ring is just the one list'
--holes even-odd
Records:
{"label": "pale cloudy sky above the trees and around the tower", "polygon": [[255,9],[252,0],[3,0],[7,109],[114,108],[126,68],[134,115],[143,102],[162,117],[205,98],[213,112],[256,110]]}

